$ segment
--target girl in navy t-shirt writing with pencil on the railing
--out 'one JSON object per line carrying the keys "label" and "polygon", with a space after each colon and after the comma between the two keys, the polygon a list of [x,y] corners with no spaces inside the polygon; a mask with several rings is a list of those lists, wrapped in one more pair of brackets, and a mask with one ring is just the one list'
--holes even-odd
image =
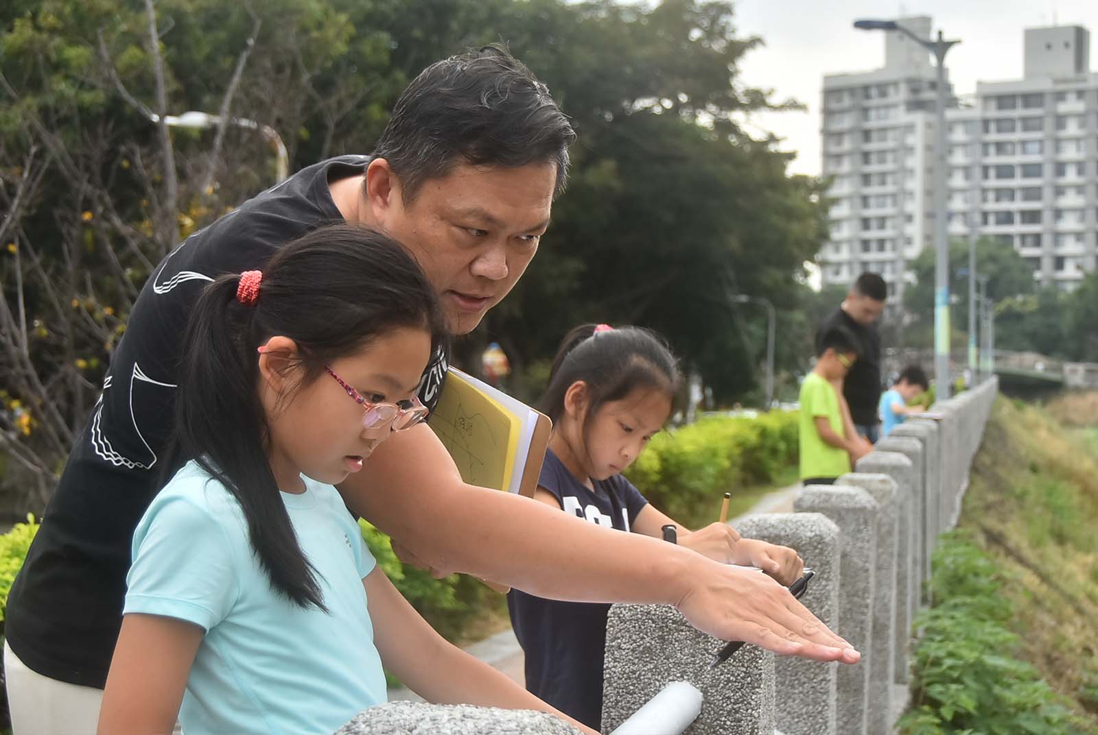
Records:
{"label": "girl in navy t-shirt writing with pencil on the railing", "polygon": [[[541,399],[553,433],[535,499],[591,523],[657,538],[664,524],[673,523],[683,546],[793,583],[804,564],[792,549],[740,539],[725,523],[691,532],[621,476],[671,416],[680,383],[674,355],[651,331],[583,325],[569,332]],[[526,654],[526,688],[597,730],[609,606],[512,590],[507,607]]]}

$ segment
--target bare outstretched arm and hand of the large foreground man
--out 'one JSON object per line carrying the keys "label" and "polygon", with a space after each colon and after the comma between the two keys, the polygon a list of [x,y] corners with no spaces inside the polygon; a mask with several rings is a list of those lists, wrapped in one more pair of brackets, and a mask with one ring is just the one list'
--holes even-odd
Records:
{"label": "bare outstretched arm and hand of the large foreground man", "polygon": [[860,658],[766,575],[467,485],[426,426],[389,438],[340,493],[352,510],[438,570],[560,600],[674,604],[720,638],[817,660]]}

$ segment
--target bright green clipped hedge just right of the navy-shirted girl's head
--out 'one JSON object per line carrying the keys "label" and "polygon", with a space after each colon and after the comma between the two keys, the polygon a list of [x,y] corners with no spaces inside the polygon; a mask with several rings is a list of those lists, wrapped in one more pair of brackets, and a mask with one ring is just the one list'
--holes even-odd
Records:
{"label": "bright green clipped hedge just right of the navy-shirted girl's head", "polygon": [[672,518],[721,493],[768,485],[797,463],[797,412],[707,417],[657,434],[626,476]]}

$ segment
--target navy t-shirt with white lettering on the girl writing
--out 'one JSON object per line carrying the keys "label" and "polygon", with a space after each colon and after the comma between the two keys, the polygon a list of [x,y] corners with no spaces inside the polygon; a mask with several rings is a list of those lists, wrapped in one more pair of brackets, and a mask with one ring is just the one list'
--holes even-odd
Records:
{"label": "navy t-shirt with white lettering on the girl writing", "polygon": [[[564,512],[628,532],[648,500],[621,475],[593,484],[594,490],[589,489],[552,451],[546,451],[538,485],[557,497]],[[609,608],[547,600],[517,589],[507,595],[511,623],[526,654],[526,688],[595,730],[603,719],[603,648]]]}

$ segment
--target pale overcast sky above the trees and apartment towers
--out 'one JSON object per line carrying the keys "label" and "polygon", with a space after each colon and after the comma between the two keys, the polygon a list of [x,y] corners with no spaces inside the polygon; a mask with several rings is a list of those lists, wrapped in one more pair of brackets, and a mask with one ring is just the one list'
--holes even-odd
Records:
{"label": "pale overcast sky above the trees and apartment towers", "polygon": [[820,170],[824,75],[884,66],[884,33],[855,31],[854,20],[908,15],[930,15],[935,33],[941,29],[948,39],[961,39],[945,57],[960,94],[975,92],[977,80],[1021,78],[1026,27],[1083,25],[1093,34],[1091,46],[1098,42],[1098,0],[736,0],[739,35],[759,35],[765,42],[744,57],[742,80],[773,89],[775,99],[792,97],[808,105],[808,112],[752,118],[759,127],[785,138],[783,148],[797,151],[792,171]]}

